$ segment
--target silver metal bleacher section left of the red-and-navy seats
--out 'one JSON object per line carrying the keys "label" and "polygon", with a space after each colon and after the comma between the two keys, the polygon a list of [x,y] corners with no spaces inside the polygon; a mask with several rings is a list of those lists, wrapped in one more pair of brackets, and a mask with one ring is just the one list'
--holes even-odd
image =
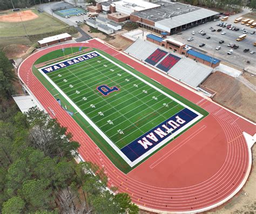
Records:
{"label": "silver metal bleacher section left of the red-and-navy seats", "polygon": [[139,60],[145,61],[156,50],[157,47],[150,44],[150,42],[137,39],[136,42],[134,42],[125,50],[125,52]]}

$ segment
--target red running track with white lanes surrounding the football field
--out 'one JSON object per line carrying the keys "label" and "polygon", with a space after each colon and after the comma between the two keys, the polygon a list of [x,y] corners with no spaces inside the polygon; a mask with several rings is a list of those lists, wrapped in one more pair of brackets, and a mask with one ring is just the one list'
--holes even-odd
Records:
{"label": "red running track with white lanes surrounding the football field", "polygon": [[[39,57],[70,46],[87,46],[103,50],[196,103],[210,114],[136,169],[124,174],[58,105],[55,98],[31,71],[33,63]],[[92,39],[88,43],[57,45],[36,52],[23,61],[18,74],[44,109],[63,126],[68,127],[73,139],[81,144],[79,153],[84,160],[103,167],[109,177],[109,185],[118,187],[119,192],[128,192],[132,201],[144,209],[167,212],[211,209],[232,197],[247,179],[251,168],[251,152],[242,132],[253,135],[255,126],[252,123],[126,57],[97,39]]]}

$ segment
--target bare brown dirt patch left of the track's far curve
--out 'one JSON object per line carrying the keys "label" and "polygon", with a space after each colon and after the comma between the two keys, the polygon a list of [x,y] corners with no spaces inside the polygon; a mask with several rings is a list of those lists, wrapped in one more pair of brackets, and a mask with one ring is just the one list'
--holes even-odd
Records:
{"label": "bare brown dirt patch left of the track's far curve", "polygon": [[29,45],[18,45],[12,44],[4,47],[3,51],[6,54],[6,57],[10,58],[22,58],[26,51],[29,50]]}

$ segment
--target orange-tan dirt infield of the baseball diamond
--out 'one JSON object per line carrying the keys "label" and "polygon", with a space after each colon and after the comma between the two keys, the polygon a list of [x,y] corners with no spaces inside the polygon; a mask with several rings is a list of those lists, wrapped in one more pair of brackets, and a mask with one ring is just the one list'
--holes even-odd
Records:
{"label": "orange-tan dirt infield of the baseball diamond", "polygon": [[[19,15],[21,15],[21,17]],[[26,10],[23,12],[14,12],[8,15],[2,15],[0,16],[0,22],[21,22],[21,18],[23,21],[28,21],[36,19],[38,16],[31,10]]]}

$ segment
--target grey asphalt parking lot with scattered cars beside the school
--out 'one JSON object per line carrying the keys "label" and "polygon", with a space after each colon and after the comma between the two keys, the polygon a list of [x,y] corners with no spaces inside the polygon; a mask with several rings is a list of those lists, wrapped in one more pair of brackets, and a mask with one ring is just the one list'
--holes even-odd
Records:
{"label": "grey asphalt parking lot with scattered cars beside the school", "polygon": [[[204,53],[209,54],[210,56],[214,56],[215,58],[219,58],[220,60],[227,61],[230,64],[236,65],[242,69],[250,69],[255,71],[256,67],[256,53],[250,54],[251,51],[256,52],[256,46],[253,46],[254,42],[256,42],[256,33],[250,34],[252,31],[256,31],[256,28],[252,29],[250,26],[241,25],[241,22],[234,23],[234,19],[239,17],[239,15],[230,16],[227,22],[228,24],[232,24],[235,27],[239,27],[239,31],[232,31],[226,29],[226,27],[217,26],[218,23],[221,23],[220,20],[216,22],[207,22],[205,24],[193,27],[191,29],[182,31],[181,33],[174,34],[171,37],[177,40],[180,40],[191,47],[201,50]],[[212,32],[210,27],[215,29],[215,32]],[[247,36],[244,40],[237,42],[236,39],[243,34],[241,28],[244,27],[245,30],[248,31]],[[217,32],[218,29],[221,29],[220,32]],[[206,32],[205,36],[198,33],[198,31],[204,30]],[[194,31],[194,35],[192,35],[192,31]],[[225,31],[226,34],[221,34],[221,32]],[[194,39],[190,42],[187,41],[188,38],[193,37]],[[210,39],[206,39],[207,37],[211,37]],[[219,44],[220,40],[224,40],[224,43]],[[199,47],[200,44],[205,43],[205,46]],[[227,46],[228,43],[233,43],[238,45],[238,49],[233,49],[233,54],[228,55],[227,52],[231,50],[230,47]],[[217,46],[221,46],[220,50],[215,50]],[[250,49],[250,51],[244,53],[244,49]],[[247,63],[250,61],[250,64]]]}

